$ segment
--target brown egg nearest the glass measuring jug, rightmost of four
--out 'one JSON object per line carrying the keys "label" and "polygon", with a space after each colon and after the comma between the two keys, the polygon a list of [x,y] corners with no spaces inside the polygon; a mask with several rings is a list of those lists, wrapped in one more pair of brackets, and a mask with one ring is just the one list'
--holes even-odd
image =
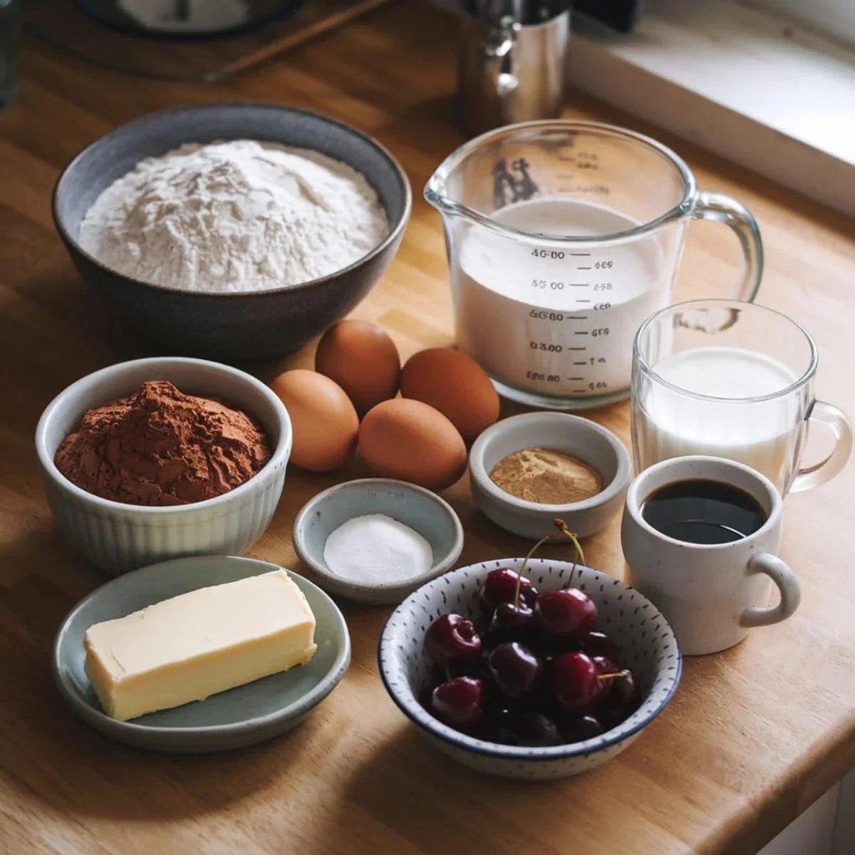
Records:
{"label": "brown egg nearest the glass measuring jug, rightmost of four", "polygon": [[430,404],[471,442],[498,419],[498,393],[486,371],[460,351],[433,347],[410,357],[401,394]]}

